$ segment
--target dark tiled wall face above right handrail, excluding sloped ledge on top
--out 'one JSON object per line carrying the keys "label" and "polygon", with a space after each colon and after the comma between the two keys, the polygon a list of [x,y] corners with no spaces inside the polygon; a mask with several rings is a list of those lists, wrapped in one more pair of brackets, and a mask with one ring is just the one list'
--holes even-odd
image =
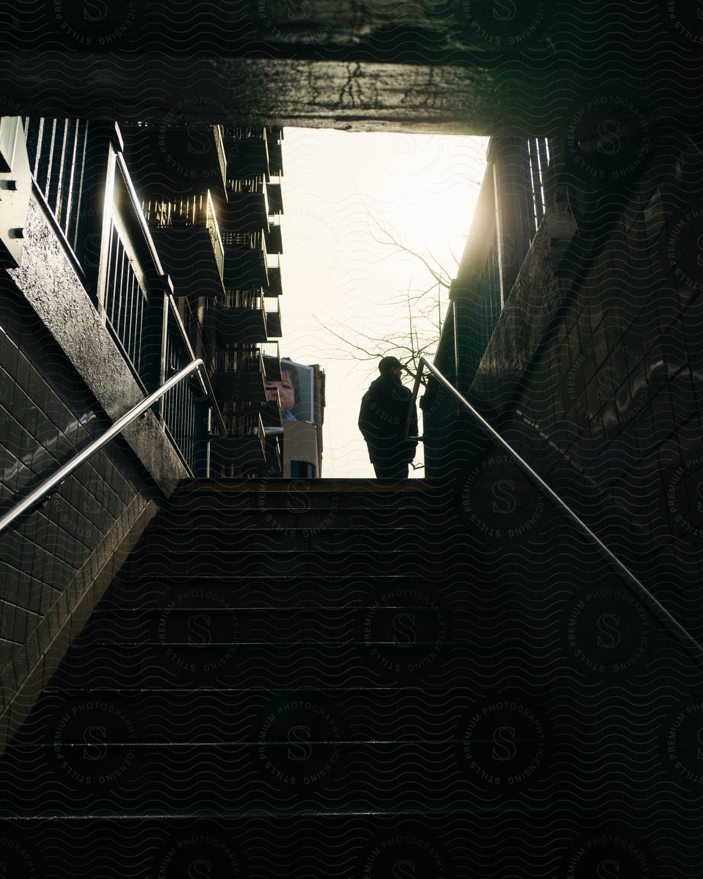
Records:
{"label": "dark tiled wall face above right handrail, excluding sloped ledge on top", "polygon": [[[504,424],[547,483],[699,637],[702,189],[698,149],[660,142],[627,195],[603,210],[603,239],[591,232],[597,246]],[[524,297],[529,261],[516,287]],[[535,279],[539,297],[539,272]]]}

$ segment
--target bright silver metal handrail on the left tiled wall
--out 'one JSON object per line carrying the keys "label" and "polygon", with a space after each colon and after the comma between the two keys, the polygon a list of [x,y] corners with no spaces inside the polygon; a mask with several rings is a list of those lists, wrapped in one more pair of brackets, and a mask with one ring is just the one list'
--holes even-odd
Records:
{"label": "bright silver metal handrail on the left tiled wall", "polygon": [[[192,360],[192,363],[189,363],[187,367],[183,367],[178,373],[172,375],[168,381],[164,381],[163,385],[155,390],[153,394],[149,394],[149,396],[145,397],[141,403],[137,403],[136,406],[133,406],[132,409],[125,413],[122,418],[118,418],[112,427],[105,431],[101,437],[94,439],[90,446],[85,447],[82,452],[76,454],[76,457],[72,458],[68,464],[64,464],[61,469],[54,473],[54,476],[49,476],[48,479],[45,479],[36,489],[27,495],[24,500],[20,501],[18,505],[12,507],[10,512],[6,512],[3,518],[0,519],[0,531],[3,531],[4,528],[10,525],[11,522],[18,518],[18,516],[21,516],[22,513],[31,510],[35,505],[39,504],[40,501],[45,500],[53,493],[56,486],[62,483],[67,476],[70,476],[74,470],[78,469],[85,463],[85,461],[88,461],[93,454],[98,452],[98,450],[110,442],[111,439],[114,439],[118,433],[122,432],[128,425],[131,425],[135,418],[139,418],[140,415],[153,406],[156,401],[160,400],[164,394],[168,393],[171,388],[174,388],[180,381],[183,381],[190,374],[198,372],[200,381],[203,382],[204,379],[203,383],[207,388],[208,396],[214,401],[213,389],[203,367],[205,367],[205,364],[202,360]],[[227,428],[222,420],[221,411],[217,405],[215,405],[214,409],[220,424],[220,432],[222,436],[227,436]]]}

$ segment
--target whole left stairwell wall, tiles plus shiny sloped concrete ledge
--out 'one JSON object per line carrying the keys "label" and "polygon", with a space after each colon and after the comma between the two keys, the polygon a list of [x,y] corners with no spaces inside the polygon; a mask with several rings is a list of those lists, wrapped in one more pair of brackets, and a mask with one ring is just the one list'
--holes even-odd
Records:
{"label": "whole left stairwell wall, tiles plus shiny sloped concrete ledge", "polygon": [[[99,190],[99,179],[96,185]],[[0,269],[2,512],[143,398],[91,300],[91,260],[78,263],[56,212],[36,181],[32,186],[21,265]],[[87,213],[85,201],[76,211]],[[3,741],[158,505],[186,475],[149,411],[69,476],[40,510],[0,534]]]}

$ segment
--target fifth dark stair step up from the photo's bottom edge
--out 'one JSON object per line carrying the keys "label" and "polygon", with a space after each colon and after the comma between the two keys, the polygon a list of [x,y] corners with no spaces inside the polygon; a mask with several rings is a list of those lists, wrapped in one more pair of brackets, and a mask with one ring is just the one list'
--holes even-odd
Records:
{"label": "fifth dark stair step up from the photo's bottom edge", "polygon": [[380,594],[367,607],[234,610],[179,607],[101,610],[83,629],[80,643],[222,643],[276,641],[475,641],[510,630],[511,616],[495,611],[438,606],[425,593]]}

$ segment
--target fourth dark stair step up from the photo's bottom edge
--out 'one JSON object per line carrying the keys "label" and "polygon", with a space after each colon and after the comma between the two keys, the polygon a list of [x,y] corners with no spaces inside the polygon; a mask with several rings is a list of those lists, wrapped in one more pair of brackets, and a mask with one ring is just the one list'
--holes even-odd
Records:
{"label": "fourth dark stair step up from the photo's bottom edge", "polygon": [[[71,647],[52,686],[509,686],[530,678],[536,650],[483,643],[100,644]],[[539,657],[540,674],[549,666]],[[554,673],[558,659],[553,659]]]}

